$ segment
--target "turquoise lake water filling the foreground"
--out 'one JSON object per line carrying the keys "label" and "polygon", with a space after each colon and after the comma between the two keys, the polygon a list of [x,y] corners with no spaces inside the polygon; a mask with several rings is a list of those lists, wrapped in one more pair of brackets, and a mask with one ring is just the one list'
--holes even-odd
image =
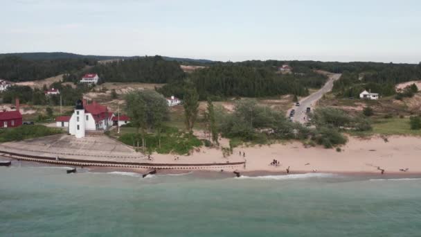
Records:
{"label": "turquoise lake water filling the foreground", "polygon": [[0,236],[421,236],[421,179],[205,176],[0,167]]}

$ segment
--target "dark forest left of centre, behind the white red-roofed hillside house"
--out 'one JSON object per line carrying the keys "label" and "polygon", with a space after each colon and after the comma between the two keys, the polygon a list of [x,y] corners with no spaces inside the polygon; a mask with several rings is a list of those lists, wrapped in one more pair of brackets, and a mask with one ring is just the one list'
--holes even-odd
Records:
{"label": "dark forest left of centre, behind the white red-roofed hillside house", "polygon": [[[164,60],[161,56],[97,64],[87,72],[97,73],[101,82],[168,83],[184,76],[178,62]],[[77,82],[81,77],[81,73],[73,73],[64,80]]]}

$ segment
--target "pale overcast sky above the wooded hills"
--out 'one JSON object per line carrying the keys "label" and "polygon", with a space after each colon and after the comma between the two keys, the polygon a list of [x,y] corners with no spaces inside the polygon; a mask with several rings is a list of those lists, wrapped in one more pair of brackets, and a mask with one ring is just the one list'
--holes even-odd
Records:
{"label": "pale overcast sky above the wooded hills", "polygon": [[421,1],[0,0],[0,53],[421,61]]}

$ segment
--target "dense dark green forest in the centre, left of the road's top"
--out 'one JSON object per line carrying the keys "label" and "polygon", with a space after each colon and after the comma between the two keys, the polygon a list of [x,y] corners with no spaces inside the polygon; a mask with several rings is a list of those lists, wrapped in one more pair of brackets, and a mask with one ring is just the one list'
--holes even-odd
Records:
{"label": "dense dark green forest in the centre, left of the road's top", "polygon": [[[308,88],[319,88],[325,76],[317,73],[280,74],[265,67],[254,68],[237,64],[217,64],[197,70],[188,75],[201,99],[211,96],[215,99],[229,96],[264,97],[280,94],[306,96]],[[160,91],[165,95],[182,96],[183,82],[175,81]]]}

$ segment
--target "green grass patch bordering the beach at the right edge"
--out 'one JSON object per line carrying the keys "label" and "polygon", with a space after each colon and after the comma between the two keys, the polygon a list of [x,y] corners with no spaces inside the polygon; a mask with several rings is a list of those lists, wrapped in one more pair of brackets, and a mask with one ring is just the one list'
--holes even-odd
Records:
{"label": "green grass patch bordering the beach at the right edge", "polygon": [[421,136],[421,130],[411,130],[409,118],[376,119],[372,124],[373,130],[368,132],[352,132],[357,136],[381,135],[407,135]]}

